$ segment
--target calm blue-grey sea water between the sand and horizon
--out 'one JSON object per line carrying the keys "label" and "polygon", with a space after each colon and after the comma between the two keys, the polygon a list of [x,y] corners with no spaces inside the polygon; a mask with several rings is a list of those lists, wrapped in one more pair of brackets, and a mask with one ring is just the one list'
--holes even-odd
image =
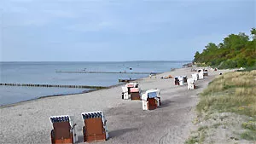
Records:
{"label": "calm blue-grey sea water between the sand and horizon", "polygon": [[[110,86],[119,84],[119,78],[144,78],[148,75],[59,73],[56,71],[166,72],[170,71],[171,68],[179,68],[187,62],[0,62],[0,83]],[[0,86],[0,105],[31,100],[40,96],[67,95],[86,90],[88,89]]]}

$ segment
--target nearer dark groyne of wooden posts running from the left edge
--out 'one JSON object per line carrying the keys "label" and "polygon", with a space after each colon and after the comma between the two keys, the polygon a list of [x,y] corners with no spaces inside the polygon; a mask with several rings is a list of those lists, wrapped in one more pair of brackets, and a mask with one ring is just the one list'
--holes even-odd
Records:
{"label": "nearer dark groyne of wooden posts running from the left edge", "polygon": [[46,87],[46,88],[79,88],[79,89],[108,89],[103,86],[90,86],[90,85],[59,85],[59,84],[0,84],[6,86],[26,86],[26,87]]}

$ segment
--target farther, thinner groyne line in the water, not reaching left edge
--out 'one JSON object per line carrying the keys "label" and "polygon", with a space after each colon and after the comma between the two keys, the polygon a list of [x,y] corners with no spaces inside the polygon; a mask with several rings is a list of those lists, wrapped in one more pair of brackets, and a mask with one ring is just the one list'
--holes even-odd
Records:
{"label": "farther, thinner groyne line in the water, not reaching left edge", "polygon": [[[93,71],[56,71],[64,73],[124,73],[124,74],[150,74],[152,72],[93,72]],[[155,72],[154,72],[155,73]]]}

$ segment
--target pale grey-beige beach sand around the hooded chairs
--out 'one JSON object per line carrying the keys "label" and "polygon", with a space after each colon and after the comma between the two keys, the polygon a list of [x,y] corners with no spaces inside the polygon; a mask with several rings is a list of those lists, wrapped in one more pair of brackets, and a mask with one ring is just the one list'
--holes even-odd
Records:
{"label": "pale grey-beige beach sand around the hooded chairs", "polygon": [[0,143],[50,143],[50,116],[73,115],[77,124],[79,143],[83,142],[84,126],[81,112],[102,110],[108,120],[108,141],[99,144],[172,144],[183,143],[193,128],[198,93],[207,87],[220,72],[209,72],[209,77],[196,81],[198,89],[187,85],[176,86],[174,79],[160,79],[187,75],[190,68],[165,72],[157,78],[138,79],[140,88],[160,89],[160,108],[143,111],[142,101],[121,99],[121,86],[79,95],[64,95],[21,102],[14,107],[0,108]]}

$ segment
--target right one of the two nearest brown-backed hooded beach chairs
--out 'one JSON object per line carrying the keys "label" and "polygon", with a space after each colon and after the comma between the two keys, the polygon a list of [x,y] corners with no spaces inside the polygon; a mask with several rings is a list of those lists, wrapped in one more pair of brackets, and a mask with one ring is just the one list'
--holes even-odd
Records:
{"label": "right one of the two nearest brown-backed hooded beach chairs", "polygon": [[83,112],[81,115],[84,120],[84,142],[108,140],[107,120],[102,111]]}

